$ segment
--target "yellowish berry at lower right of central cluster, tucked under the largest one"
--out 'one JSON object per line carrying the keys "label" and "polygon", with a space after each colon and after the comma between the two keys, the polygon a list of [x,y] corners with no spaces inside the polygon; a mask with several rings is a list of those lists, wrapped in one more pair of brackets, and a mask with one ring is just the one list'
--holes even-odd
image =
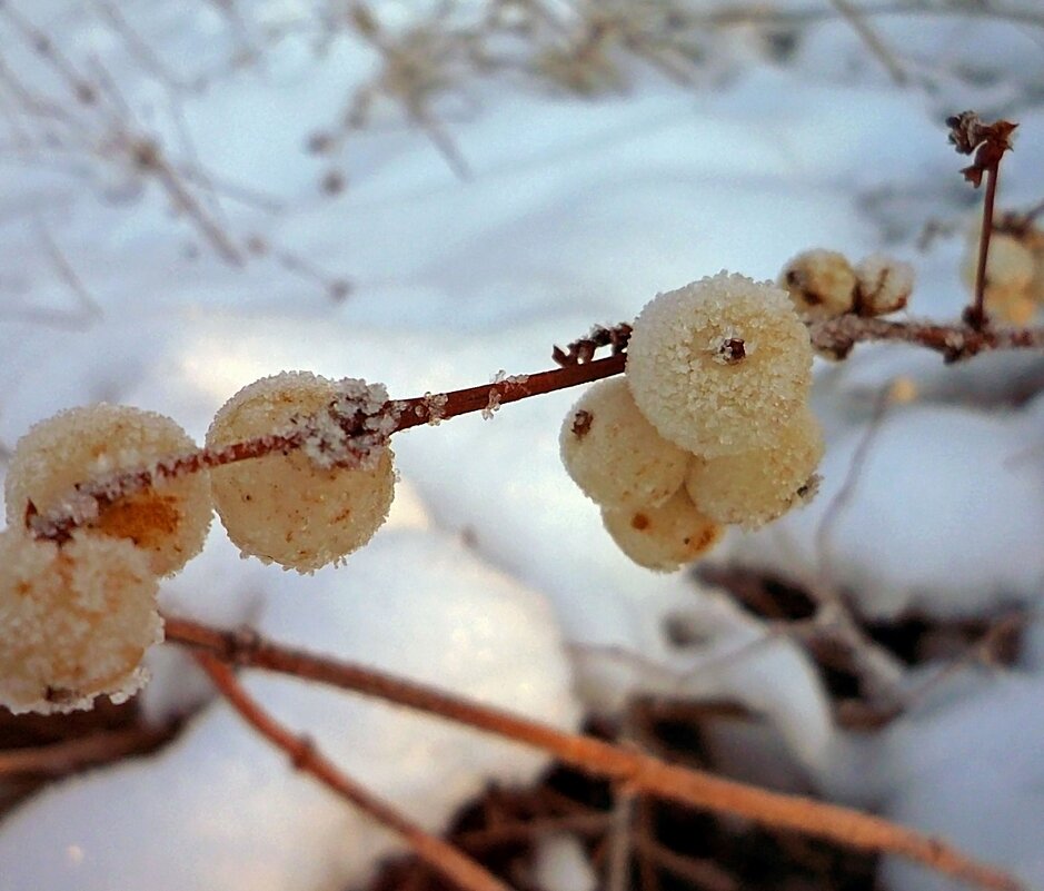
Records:
{"label": "yellowish berry at lower right of central cluster, tucked under the largest one", "polygon": [[814,488],[823,434],[801,408],[767,446],[715,458],[696,458],[685,488],[696,507],[717,523],[757,528],[783,516]]}

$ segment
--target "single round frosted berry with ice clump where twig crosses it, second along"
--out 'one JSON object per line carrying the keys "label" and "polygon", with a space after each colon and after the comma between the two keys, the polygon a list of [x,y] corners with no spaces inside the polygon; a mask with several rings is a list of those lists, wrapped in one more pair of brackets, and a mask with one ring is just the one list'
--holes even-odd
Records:
{"label": "single round frosted berry with ice clump where twig crosses it, second along", "polygon": [[[354,394],[361,392],[360,382],[350,383]],[[379,406],[382,399],[370,390],[372,399],[355,404]],[[365,453],[352,459],[328,413],[342,397],[332,380],[287,372],[250,384],[218,412],[210,447],[311,423],[302,449],[212,472],[218,516],[245,554],[311,572],[361,547],[385,522],[395,485],[391,449],[375,427]]]}

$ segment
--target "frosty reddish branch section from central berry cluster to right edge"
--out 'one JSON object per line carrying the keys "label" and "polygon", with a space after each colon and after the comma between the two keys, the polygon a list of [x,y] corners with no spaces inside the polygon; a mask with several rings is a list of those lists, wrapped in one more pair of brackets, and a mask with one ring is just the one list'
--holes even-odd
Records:
{"label": "frosty reddish branch section from central berry cluster to right edge", "polygon": [[844,315],[809,325],[808,334],[813,346],[842,355],[855,343],[892,340],[934,349],[942,353],[947,363],[997,349],[1044,349],[1044,328],[1040,327],[975,330],[967,325],[937,325],[916,319],[887,321]]}

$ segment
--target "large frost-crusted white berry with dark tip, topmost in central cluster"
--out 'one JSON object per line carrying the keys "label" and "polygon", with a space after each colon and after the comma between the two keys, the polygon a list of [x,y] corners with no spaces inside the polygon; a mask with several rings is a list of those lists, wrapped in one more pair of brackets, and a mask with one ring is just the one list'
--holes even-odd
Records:
{"label": "large frost-crusted white berry with dark tip, topmost in central cluster", "polygon": [[626,376],[662,436],[715,457],[773,442],[808,398],[812,355],[786,291],[720,273],[646,305]]}

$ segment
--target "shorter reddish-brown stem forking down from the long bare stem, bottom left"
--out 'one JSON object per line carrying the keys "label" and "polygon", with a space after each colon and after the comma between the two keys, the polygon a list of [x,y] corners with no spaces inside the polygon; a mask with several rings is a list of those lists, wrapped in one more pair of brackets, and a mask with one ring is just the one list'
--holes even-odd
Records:
{"label": "shorter reddish-brown stem forking down from the long bare stem, bottom left", "polygon": [[281,749],[296,770],[311,774],[381,825],[399,834],[420,860],[458,888],[466,891],[510,891],[471,858],[425,832],[389,803],[348,778],[308,737],[297,736],[282,726],[247,693],[223,662],[206,652],[197,653],[196,660],[239,716],[272,745]]}

